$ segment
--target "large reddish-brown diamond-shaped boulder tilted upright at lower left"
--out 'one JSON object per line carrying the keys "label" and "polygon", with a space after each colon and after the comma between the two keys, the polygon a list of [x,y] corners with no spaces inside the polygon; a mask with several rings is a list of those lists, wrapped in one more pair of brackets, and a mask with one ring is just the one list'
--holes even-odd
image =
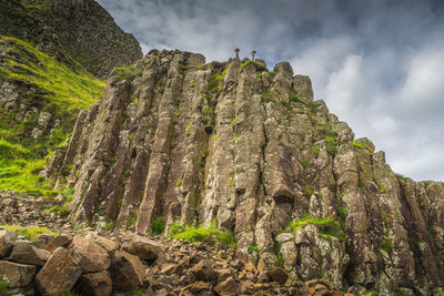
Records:
{"label": "large reddish-brown diamond-shaped boulder tilted upright at lower left", "polygon": [[70,252],[59,247],[37,274],[36,282],[44,295],[60,295],[71,290],[81,274]]}

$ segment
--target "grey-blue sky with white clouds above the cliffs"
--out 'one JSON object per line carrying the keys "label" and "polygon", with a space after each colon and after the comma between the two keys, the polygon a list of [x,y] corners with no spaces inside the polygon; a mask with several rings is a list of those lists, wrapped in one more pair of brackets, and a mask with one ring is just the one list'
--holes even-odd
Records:
{"label": "grey-blue sky with white clouds above the cliffs", "polygon": [[401,174],[444,181],[444,1],[99,0],[143,51],[291,62]]}

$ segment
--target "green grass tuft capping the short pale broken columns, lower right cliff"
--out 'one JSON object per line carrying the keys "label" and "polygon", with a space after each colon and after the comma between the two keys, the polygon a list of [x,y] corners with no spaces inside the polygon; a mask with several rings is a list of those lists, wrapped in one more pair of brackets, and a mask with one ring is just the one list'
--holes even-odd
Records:
{"label": "green grass tuft capping the short pale broken columns, lower right cliff", "polygon": [[310,215],[303,215],[300,220],[290,223],[290,228],[293,232],[297,232],[297,229],[304,227],[307,224],[319,226],[320,234],[326,236],[327,238],[334,236],[337,237],[341,242],[345,242],[346,239],[346,235],[342,231],[340,223],[332,217],[313,218]]}

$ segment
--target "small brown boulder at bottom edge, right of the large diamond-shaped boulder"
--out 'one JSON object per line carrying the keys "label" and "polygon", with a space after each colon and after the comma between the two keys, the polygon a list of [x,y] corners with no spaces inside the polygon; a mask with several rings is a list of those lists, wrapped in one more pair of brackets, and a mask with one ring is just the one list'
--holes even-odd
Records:
{"label": "small brown boulder at bottom edge, right of the large diamond-shaped boulder", "polygon": [[94,274],[83,274],[77,284],[77,290],[81,295],[108,296],[112,292],[111,276],[103,271]]}

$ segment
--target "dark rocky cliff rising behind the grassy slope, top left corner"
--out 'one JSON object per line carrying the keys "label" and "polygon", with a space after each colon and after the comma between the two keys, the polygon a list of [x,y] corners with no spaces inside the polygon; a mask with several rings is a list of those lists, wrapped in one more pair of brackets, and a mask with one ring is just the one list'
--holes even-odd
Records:
{"label": "dark rocky cliff rising behind the grassy slope, top left corner", "polygon": [[73,70],[79,62],[101,79],[142,58],[135,38],[93,0],[1,0],[0,18],[1,35],[31,42]]}

